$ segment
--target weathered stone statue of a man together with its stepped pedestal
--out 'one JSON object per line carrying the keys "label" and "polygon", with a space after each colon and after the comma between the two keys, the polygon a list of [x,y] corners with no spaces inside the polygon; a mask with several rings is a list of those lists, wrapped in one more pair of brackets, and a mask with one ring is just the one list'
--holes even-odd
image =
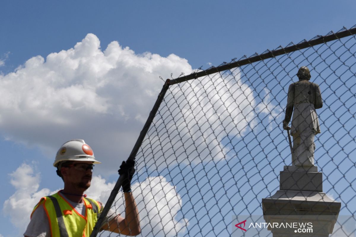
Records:
{"label": "weathered stone statue of a man together with its stepped pedestal", "polygon": [[[323,192],[323,173],[318,172],[318,167],[314,165],[314,136],[320,133],[315,109],[323,107],[323,102],[319,86],[309,81],[309,69],[301,67],[297,76],[299,81],[288,88],[286,117],[283,120],[292,151],[292,166],[285,165],[279,172],[279,190],[272,196],[262,198],[263,219],[273,224],[313,222],[313,233],[306,236],[328,237],[333,233],[341,203]],[[293,147],[289,130],[293,135]],[[303,236],[293,228],[273,227],[268,228],[273,237]]]}

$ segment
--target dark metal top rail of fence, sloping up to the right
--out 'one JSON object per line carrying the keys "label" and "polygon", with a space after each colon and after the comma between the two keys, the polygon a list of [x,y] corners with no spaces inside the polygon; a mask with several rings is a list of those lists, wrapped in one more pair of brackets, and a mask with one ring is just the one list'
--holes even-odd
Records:
{"label": "dark metal top rail of fence, sloping up to the right", "polygon": [[301,43],[298,43],[298,44],[295,44],[295,45],[292,45],[292,46],[289,46],[286,48],[281,48],[281,49],[272,50],[272,51],[267,50],[267,53],[259,54],[256,56],[252,56],[250,58],[239,60],[239,61],[232,60],[232,63],[225,63],[218,67],[213,66],[213,67],[211,67],[207,70],[204,70],[204,71],[198,71],[198,72],[193,72],[192,74],[189,74],[189,75],[183,75],[176,79],[170,80],[169,85],[177,84],[177,83],[192,80],[192,79],[197,79],[198,77],[207,76],[207,75],[210,75],[210,74],[213,74],[216,72],[220,72],[220,71],[230,70],[230,69],[233,69],[233,68],[236,68],[239,66],[255,63],[257,61],[265,60],[268,58],[274,58],[274,57],[282,55],[282,54],[287,54],[287,53],[294,52],[294,51],[297,51],[300,49],[312,47],[312,46],[315,46],[318,44],[330,42],[335,39],[340,39],[340,38],[344,38],[344,37],[352,36],[352,35],[356,34],[356,26],[353,26],[350,29],[346,29],[344,27],[344,29],[345,29],[344,31],[339,31],[337,33],[330,32],[326,36],[315,37],[314,39],[312,39],[310,41],[304,40]]}

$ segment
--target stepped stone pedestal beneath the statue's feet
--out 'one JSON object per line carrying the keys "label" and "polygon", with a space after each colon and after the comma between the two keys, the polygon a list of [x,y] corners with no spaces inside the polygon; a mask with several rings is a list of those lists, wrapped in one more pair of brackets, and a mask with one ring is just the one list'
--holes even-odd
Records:
{"label": "stepped stone pedestal beneath the statue's feet", "polygon": [[[333,232],[341,203],[323,193],[322,181],[323,174],[316,166],[284,166],[280,172],[280,190],[262,199],[263,217],[266,223],[279,223],[279,226],[284,223],[283,227],[286,223],[310,223],[309,227],[313,227],[269,227],[273,237],[328,237]],[[298,224],[296,227],[300,227]]]}

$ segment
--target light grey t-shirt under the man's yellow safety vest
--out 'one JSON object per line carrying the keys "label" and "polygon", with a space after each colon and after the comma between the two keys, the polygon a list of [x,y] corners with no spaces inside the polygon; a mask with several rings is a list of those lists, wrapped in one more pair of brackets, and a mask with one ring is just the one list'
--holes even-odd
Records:
{"label": "light grey t-shirt under the man's yellow safety vest", "polygon": [[[70,205],[72,205],[74,209],[78,211],[78,213],[85,216],[84,202],[73,203],[72,201],[68,200],[66,197],[64,197],[64,199],[66,199],[70,203]],[[100,206],[101,206],[100,210],[102,211],[104,209],[104,205],[100,203]],[[98,218],[99,215],[100,214],[98,213]],[[114,211],[109,210],[108,215],[106,215],[103,221],[103,225],[101,225],[100,229],[103,228],[103,226],[106,223],[108,223],[108,221],[114,219],[115,216],[117,215],[119,214],[115,214]],[[26,232],[23,235],[29,237],[51,237],[51,230],[49,229],[48,217],[45,212],[45,209],[43,208],[43,205],[38,206],[35,212],[33,212],[31,221],[28,224]]]}

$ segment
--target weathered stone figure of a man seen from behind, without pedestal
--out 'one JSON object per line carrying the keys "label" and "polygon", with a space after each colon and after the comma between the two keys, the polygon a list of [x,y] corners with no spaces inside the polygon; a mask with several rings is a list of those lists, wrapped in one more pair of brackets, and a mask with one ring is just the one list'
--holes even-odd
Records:
{"label": "weathered stone figure of a man seen from behind, without pedestal", "polygon": [[[293,136],[292,165],[310,167],[314,166],[314,136],[320,133],[315,109],[323,107],[323,101],[319,86],[309,81],[311,76],[307,67],[301,67],[297,76],[299,81],[290,84],[288,88],[283,129],[290,129]],[[292,113],[292,126],[289,128]]]}

